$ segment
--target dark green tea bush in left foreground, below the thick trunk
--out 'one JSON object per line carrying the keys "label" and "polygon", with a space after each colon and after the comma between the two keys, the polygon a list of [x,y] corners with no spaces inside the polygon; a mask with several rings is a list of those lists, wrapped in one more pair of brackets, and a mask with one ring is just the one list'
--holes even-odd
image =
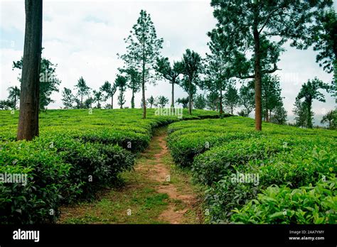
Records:
{"label": "dark green tea bush in left foreground, below the thick trunk", "polygon": [[37,224],[53,222],[65,189],[69,194],[71,165],[55,150],[40,148],[33,142],[1,143],[0,174],[26,175],[26,185],[0,182],[1,224]]}

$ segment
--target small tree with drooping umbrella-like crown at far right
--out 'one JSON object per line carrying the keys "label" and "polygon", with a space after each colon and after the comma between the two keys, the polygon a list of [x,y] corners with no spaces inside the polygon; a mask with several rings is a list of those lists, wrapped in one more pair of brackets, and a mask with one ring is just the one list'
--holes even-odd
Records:
{"label": "small tree with drooping umbrella-like crown at far right", "polygon": [[318,101],[325,102],[324,95],[319,92],[319,89],[328,90],[328,84],[323,83],[320,79],[309,79],[308,82],[302,84],[301,90],[297,95],[296,99],[304,99],[306,106],[306,123],[307,128],[312,128],[312,117],[311,117],[311,109],[312,109],[312,101],[317,99]]}

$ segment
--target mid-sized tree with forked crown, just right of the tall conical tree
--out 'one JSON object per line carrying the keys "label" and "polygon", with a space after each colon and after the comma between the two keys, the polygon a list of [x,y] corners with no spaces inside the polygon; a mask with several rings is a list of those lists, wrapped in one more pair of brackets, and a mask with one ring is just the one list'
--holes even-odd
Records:
{"label": "mid-sized tree with forked crown, just right of the tall conical tree", "polygon": [[161,57],[157,59],[156,62],[156,72],[159,73],[161,77],[167,79],[169,83],[172,84],[171,92],[171,107],[174,108],[174,85],[180,84],[179,75],[182,72],[181,62],[173,62],[171,66],[169,57]]}

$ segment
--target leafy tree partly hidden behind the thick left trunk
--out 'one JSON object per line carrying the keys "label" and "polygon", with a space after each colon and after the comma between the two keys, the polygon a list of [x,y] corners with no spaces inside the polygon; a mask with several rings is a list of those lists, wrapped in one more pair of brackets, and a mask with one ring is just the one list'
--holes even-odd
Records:
{"label": "leafy tree partly hidden behind the thick left trunk", "polygon": [[[22,70],[23,58],[17,62],[13,62],[13,69]],[[58,92],[58,86],[61,81],[55,74],[56,67],[50,60],[42,57],[40,62],[40,74],[39,74],[39,110],[46,109],[48,104],[54,102],[50,98],[53,92]],[[18,78],[21,82],[21,78]]]}

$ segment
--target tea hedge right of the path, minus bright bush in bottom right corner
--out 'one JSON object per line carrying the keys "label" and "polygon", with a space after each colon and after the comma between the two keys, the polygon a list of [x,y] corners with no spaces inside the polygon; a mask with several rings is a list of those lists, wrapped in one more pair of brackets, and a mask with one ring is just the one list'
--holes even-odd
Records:
{"label": "tea hedge right of the path, minus bright bush in bottom right corner", "polygon": [[[262,129],[255,132],[254,120],[243,117],[177,122],[169,126],[169,148],[174,160],[178,165],[191,166],[193,179],[207,186],[205,204],[210,222],[230,223],[234,219],[239,222],[232,218],[234,212],[253,202],[268,187],[296,190],[336,174],[336,131],[268,123],[263,123]],[[235,178],[245,175],[254,180]],[[263,203],[260,202],[259,214],[267,215]],[[336,203],[332,209],[336,212]],[[301,222],[296,217],[291,222],[296,220]],[[268,223],[280,222],[275,218]]]}

